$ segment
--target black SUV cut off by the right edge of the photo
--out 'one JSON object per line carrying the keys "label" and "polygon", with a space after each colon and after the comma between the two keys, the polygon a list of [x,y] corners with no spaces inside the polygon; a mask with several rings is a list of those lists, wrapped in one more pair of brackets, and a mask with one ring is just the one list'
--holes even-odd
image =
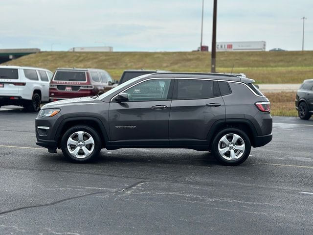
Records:
{"label": "black SUV cut off by the right edge of the photo", "polygon": [[308,120],[313,114],[313,79],[304,80],[295,96],[295,108],[301,119]]}

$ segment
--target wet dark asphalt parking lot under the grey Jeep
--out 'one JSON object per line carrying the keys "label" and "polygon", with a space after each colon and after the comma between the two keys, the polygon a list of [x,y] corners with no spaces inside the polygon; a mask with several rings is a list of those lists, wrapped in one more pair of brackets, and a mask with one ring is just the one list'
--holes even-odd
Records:
{"label": "wet dark asphalt parking lot under the grey Jeep", "polygon": [[35,144],[37,114],[0,109],[0,234],[313,234],[313,119],[274,117],[239,166],[185,149],[102,150],[90,164]]}

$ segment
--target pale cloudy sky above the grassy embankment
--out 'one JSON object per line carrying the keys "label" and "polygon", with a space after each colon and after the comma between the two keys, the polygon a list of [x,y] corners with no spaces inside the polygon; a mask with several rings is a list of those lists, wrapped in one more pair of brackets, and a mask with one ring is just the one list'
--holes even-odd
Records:
{"label": "pale cloudy sky above the grassy embankment", "polygon": [[[191,51],[202,0],[0,0],[0,48]],[[267,50],[313,50],[313,0],[218,0],[217,42],[266,41]],[[213,0],[204,0],[211,50]]]}

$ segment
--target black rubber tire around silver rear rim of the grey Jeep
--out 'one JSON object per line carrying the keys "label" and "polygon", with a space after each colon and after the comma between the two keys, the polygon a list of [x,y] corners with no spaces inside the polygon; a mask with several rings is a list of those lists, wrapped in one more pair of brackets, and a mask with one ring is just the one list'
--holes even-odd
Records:
{"label": "black rubber tire around silver rear rim of the grey Jeep", "polygon": [[[233,136],[231,134],[236,134],[238,135],[241,139],[238,139],[238,141],[235,142],[235,145],[233,146],[234,148],[236,147],[236,145],[242,145],[244,141],[244,146],[245,146],[245,150],[243,151],[243,154],[241,155],[241,152],[239,150],[234,150],[235,151],[235,154],[236,152],[238,153],[238,159],[234,159],[234,160],[228,160],[228,159],[225,159],[225,157],[227,156],[222,156],[219,152],[219,143],[220,143],[220,140],[222,139],[222,137],[226,136],[227,140],[228,138],[232,138]],[[227,136],[229,135],[229,136]],[[233,139],[229,139],[230,141],[230,145],[232,145],[233,143],[231,142],[231,140]],[[242,143],[242,144],[240,144]],[[225,150],[226,149],[229,149],[229,147],[231,147],[230,145],[227,145],[227,144],[224,144],[224,142],[221,142],[220,143],[221,145],[221,148],[223,149],[224,145],[225,145]],[[229,147],[228,147],[229,146]],[[251,142],[249,140],[249,137],[246,135],[245,132],[237,129],[237,128],[227,128],[227,129],[224,129],[222,131],[220,131],[214,138],[213,142],[212,142],[212,146],[211,146],[211,151],[214,155],[214,157],[222,164],[224,165],[239,165],[239,164],[242,164],[243,162],[246,161],[246,159],[248,158],[249,154],[250,154],[250,151],[251,151]],[[229,155],[229,158],[230,158],[230,151],[227,151],[224,155]],[[241,156],[239,156],[241,155]]]}

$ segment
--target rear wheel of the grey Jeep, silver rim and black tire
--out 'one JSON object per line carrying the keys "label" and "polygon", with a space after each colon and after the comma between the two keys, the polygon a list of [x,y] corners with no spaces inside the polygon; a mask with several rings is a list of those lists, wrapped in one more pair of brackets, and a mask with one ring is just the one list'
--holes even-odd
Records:
{"label": "rear wheel of the grey Jeep, silver rim and black tire", "polygon": [[213,140],[212,153],[224,165],[239,165],[250,154],[251,143],[245,132],[236,128],[220,131]]}

